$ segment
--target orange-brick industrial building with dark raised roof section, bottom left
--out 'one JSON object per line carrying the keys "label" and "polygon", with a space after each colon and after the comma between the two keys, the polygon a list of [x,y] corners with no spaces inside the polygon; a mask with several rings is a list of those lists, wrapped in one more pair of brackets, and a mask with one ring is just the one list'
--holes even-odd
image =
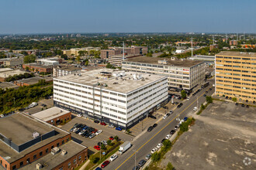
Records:
{"label": "orange-brick industrial building with dark raised roof section, bottom left", "polygon": [[27,114],[0,118],[0,137],[0,169],[67,169],[88,158],[71,133]]}

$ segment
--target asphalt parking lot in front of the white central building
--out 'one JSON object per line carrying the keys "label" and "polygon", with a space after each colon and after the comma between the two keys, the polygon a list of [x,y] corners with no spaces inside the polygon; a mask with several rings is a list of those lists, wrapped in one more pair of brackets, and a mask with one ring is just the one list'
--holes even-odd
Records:
{"label": "asphalt parking lot in front of the white central building", "polygon": [[99,141],[108,141],[110,136],[115,137],[117,135],[122,141],[131,141],[133,138],[131,135],[123,133],[123,131],[117,131],[114,128],[108,128],[107,125],[103,126],[101,124],[95,124],[93,121],[88,120],[85,117],[74,116],[74,118],[71,121],[61,126],[61,128],[64,129],[65,131],[70,131],[74,124],[86,124],[87,126],[95,128],[97,130],[102,130],[101,134],[95,136],[92,139],[82,137],[81,135],[75,134],[74,132],[71,133],[74,141],[77,141],[79,144],[88,147],[88,149],[91,152],[89,154],[92,154],[93,152],[97,151],[93,147],[97,145]]}

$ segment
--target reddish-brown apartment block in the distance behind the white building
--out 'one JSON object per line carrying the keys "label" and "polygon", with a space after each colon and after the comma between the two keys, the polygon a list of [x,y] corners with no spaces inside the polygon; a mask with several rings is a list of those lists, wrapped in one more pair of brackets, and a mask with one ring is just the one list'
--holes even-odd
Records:
{"label": "reddish-brown apartment block in the distance behind the white building", "polygon": [[130,46],[125,47],[123,52],[123,47],[109,47],[109,49],[101,50],[102,59],[108,59],[109,56],[116,56],[125,53],[127,56],[139,56],[147,53],[147,46]]}

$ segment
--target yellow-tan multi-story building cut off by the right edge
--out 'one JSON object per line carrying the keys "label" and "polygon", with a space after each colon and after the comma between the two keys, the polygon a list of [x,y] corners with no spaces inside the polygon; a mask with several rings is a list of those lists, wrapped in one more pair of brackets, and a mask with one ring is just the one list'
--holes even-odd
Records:
{"label": "yellow-tan multi-story building cut off by the right edge", "polygon": [[256,53],[223,51],[216,54],[216,94],[256,100]]}

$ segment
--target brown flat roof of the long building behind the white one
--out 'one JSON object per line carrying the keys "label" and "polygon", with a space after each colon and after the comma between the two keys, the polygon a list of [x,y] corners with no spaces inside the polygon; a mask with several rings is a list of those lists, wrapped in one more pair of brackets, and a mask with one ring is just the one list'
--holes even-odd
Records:
{"label": "brown flat roof of the long building behind the white one", "polygon": [[[160,64],[158,60],[166,60],[167,64]],[[158,65],[174,65],[174,66],[195,66],[196,64],[203,63],[199,60],[190,60],[190,59],[179,59],[179,60],[171,60],[170,58],[160,58],[160,57],[151,57],[151,56],[137,56],[133,58],[126,59],[125,62],[137,62],[137,63],[151,63]]]}

